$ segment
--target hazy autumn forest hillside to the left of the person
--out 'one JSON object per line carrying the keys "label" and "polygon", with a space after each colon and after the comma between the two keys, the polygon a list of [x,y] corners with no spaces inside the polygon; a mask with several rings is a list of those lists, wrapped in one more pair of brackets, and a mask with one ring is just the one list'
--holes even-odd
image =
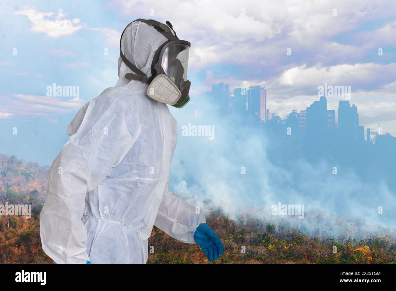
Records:
{"label": "hazy autumn forest hillside to the left of the person", "polygon": [[52,263],[42,251],[39,215],[48,167],[0,154],[0,204],[32,205],[32,217],[0,216],[0,263]]}

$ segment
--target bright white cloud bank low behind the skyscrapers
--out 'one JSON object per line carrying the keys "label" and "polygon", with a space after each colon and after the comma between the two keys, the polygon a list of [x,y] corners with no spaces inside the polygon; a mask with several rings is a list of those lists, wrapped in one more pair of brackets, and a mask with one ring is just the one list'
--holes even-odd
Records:
{"label": "bright white cloud bank low behind the skyscrapers", "polygon": [[[381,123],[385,131],[396,135],[396,63],[342,64],[330,67],[306,65],[286,70],[270,80],[238,80],[236,76],[215,78],[211,70],[206,71],[206,86],[194,88],[196,94],[211,91],[211,84],[225,82],[230,91],[238,87],[265,84],[267,108],[271,113],[284,118],[293,108],[304,110],[318,100],[318,86],[351,86],[350,104],[358,107],[360,125],[367,127]],[[327,108],[338,110],[344,97],[327,97]],[[336,115],[337,118],[337,115]]]}

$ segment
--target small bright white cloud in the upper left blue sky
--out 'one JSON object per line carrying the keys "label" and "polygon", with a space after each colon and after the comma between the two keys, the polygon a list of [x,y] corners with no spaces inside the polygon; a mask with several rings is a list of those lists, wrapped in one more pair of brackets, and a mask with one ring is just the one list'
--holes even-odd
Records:
{"label": "small bright white cloud in the upper left blue sky", "polygon": [[41,12],[30,6],[16,10],[14,14],[26,15],[31,23],[31,31],[44,32],[46,36],[52,38],[71,35],[83,27],[79,18],[67,19],[67,13],[58,15],[54,12]]}

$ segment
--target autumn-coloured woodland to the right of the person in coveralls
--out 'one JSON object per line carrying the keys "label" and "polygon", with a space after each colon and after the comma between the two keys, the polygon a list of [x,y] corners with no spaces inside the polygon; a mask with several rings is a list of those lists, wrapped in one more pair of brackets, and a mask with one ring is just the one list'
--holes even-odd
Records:
{"label": "autumn-coloured woodland to the right of the person in coveralls", "polygon": [[[247,218],[240,224],[221,211],[211,211],[207,224],[219,235],[224,255],[214,263],[249,264],[381,264],[396,262],[396,242],[389,235],[373,236],[346,243],[332,239],[308,237],[295,228],[280,231],[275,224]],[[148,263],[209,263],[198,245],[173,240],[153,229],[148,240],[154,253]]]}

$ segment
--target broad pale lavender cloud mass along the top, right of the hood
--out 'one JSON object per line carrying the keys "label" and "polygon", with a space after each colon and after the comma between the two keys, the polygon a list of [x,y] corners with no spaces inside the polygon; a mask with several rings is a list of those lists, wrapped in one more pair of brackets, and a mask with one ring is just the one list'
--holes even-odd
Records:
{"label": "broad pale lavender cloud mass along the top, right of the hood", "polygon": [[[392,17],[396,12],[390,0],[381,4],[370,0],[175,0],[172,6],[165,2],[114,0],[111,5],[124,16],[144,15],[173,22],[177,35],[192,42],[192,51],[200,50],[199,57],[190,54],[193,62],[189,68],[200,70],[227,63],[252,65],[254,71],[263,64],[272,63],[274,68],[266,65],[260,72],[270,69],[274,73],[284,70],[290,62],[302,65],[304,59],[326,65],[337,64],[340,60],[356,61],[369,53],[367,48],[360,44],[343,44],[336,37],[353,33],[367,22],[384,21],[386,16]],[[334,8],[336,16],[333,16]],[[174,19],[177,21],[172,21]],[[385,25],[379,29],[379,38],[393,39],[393,27]],[[287,48],[292,49],[292,57],[287,58]]]}

